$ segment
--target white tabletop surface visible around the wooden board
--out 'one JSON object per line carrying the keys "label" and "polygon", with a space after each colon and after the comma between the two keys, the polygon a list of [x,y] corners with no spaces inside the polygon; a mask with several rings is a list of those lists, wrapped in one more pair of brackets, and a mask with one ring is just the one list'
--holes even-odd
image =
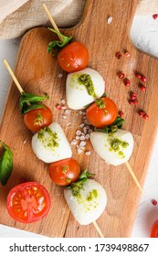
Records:
{"label": "white tabletop surface visible around the wooden board", "polygon": [[[158,12],[157,12],[158,13]],[[135,16],[131,30],[132,43],[144,52],[149,52],[158,57],[158,19],[150,16]],[[15,40],[0,42],[0,117],[5,106],[6,94],[10,77],[4,67],[3,59],[7,59],[11,67],[14,67],[18,44]],[[150,121],[149,121],[150,122]],[[148,168],[143,195],[138,208],[132,238],[148,238],[153,222],[158,219],[158,205],[153,206],[152,200],[158,201],[158,136],[153,147],[153,156]],[[129,206],[130,207],[130,206]],[[0,238],[17,237],[42,237],[23,230],[13,229],[0,225]]]}

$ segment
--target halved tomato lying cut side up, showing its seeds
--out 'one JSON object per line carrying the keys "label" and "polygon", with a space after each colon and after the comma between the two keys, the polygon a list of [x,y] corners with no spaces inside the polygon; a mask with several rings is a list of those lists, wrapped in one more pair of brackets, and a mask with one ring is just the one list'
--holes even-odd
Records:
{"label": "halved tomato lying cut side up, showing its seeds", "polygon": [[13,187],[6,202],[9,215],[23,223],[43,219],[50,208],[47,189],[37,182],[26,182]]}

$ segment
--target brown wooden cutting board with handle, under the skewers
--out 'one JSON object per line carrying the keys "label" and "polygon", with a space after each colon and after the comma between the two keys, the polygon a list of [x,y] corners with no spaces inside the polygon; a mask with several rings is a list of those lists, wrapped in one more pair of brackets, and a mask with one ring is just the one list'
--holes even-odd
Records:
{"label": "brown wooden cutting board with handle, under the skewers", "polygon": [[[144,55],[132,46],[129,31],[137,3],[137,0],[120,0],[117,3],[114,0],[87,0],[79,25],[63,32],[73,35],[75,40],[87,46],[90,53],[89,67],[100,72],[106,81],[108,96],[117,103],[118,109],[124,112],[125,123],[122,128],[132,132],[135,142],[130,165],[143,187],[158,124],[158,60]],[[109,16],[113,17],[111,24],[107,23]],[[47,28],[38,27],[28,31],[19,48],[15,73],[25,91],[37,94],[47,92],[50,96],[47,105],[54,114],[54,120],[64,129],[70,143],[79,129],[79,124],[83,122],[83,117],[77,111],[70,111],[64,119],[64,111],[58,111],[56,108],[61,99],[65,99],[67,73],[58,67],[57,59],[47,54],[47,44],[55,38]],[[117,59],[116,53],[123,53],[125,50],[128,50],[131,56],[127,58],[122,55],[121,59]],[[133,70],[138,70],[147,77],[145,92],[140,90],[139,80],[135,78]],[[118,78],[119,71],[123,71],[131,80],[129,88]],[[58,77],[60,73],[63,74],[62,78]],[[138,105],[129,104],[131,91],[137,94]],[[7,185],[0,187],[0,223],[51,237],[98,237],[92,224],[80,226],[73,218],[63,197],[63,187],[51,182],[47,174],[48,165],[39,161],[33,154],[32,134],[26,130],[19,112],[19,96],[12,82],[1,123],[0,138],[14,153],[14,170]],[[138,115],[140,109],[149,114],[148,121]],[[89,167],[90,172],[96,174],[95,179],[106,189],[107,208],[97,220],[104,236],[130,237],[141,192],[135,186],[126,166],[106,165],[95,154],[90,142],[86,147],[86,150],[91,151],[90,156],[85,153],[78,155],[75,146],[72,146],[72,150],[73,157],[79,161],[82,169]],[[18,223],[11,219],[6,211],[7,193],[22,179],[37,181],[47,187],[50,193],[50,212],[47,218],[37,223]]]}

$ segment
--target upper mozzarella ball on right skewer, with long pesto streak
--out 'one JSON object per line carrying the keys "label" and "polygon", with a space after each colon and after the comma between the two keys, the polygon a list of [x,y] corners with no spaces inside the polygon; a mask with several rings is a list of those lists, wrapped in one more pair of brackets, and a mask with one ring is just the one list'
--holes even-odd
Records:
{"label": "upper mozzarella ball on right skewer, with long pesto streak", "polygon": [[105,91],[105,81],[100,73],[86,68],[69,73],[66,81],[66,99],[72,110],[84,109],[100,98]]}

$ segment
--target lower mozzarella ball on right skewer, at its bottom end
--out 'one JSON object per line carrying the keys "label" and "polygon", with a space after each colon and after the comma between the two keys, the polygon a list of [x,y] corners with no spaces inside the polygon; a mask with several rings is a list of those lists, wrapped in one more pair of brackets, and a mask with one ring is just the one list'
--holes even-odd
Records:
{"label": "lower mozzarella ball on right skewer, at its bottom end", "polygon": [[107,133],[90,133],[90,142],[98,155],[110,165],[121,165],[132,155],[132,133],[118,129],[113,136]]}

